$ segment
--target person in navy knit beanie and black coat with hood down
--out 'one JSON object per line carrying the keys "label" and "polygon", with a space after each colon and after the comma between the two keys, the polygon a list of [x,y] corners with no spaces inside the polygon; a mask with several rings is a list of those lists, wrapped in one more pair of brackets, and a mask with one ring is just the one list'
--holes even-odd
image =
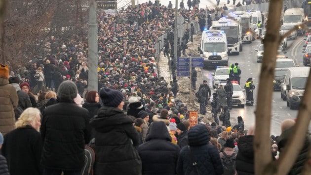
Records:
{"label": "person in navy knit beanie and black coat with hood down", "polygon": [[135,149],[140,138],[134,121],[122,111],[122,93],[102,88],[99,95],[104,106],[90,121],[96,131],[94,175],[141,175],[142,164]]}

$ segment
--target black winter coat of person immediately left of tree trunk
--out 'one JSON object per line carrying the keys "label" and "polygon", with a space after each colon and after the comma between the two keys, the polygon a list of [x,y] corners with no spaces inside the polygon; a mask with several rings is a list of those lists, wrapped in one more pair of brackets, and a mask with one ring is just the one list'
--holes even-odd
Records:
{"label": "black winter coat of person immediately left of tree trunk", "polygon": [[238,139],[238,152],[235,170],[238,175],[254,175],[254,136],[243,136]]}

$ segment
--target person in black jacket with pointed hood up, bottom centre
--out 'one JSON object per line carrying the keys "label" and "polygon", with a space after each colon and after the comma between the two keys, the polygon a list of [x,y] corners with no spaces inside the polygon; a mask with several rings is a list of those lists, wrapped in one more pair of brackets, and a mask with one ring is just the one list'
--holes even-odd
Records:
{"label": "person in black jacket with pointed hood up, bottom centre", "polygon": [[146,143],[138,146],[137,150],[142,159],[143,175],[176,175],[180,148],[171,143],[163,121],[152,123]]}

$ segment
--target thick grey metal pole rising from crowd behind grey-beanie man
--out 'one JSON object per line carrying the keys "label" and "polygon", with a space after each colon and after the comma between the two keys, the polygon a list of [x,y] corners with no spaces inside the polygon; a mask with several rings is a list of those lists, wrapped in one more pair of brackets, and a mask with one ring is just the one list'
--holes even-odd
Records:
{"label": "thick grey metal pole rising from crowd behind grey-beanie man", "polygon": [[96,1],[89,0],[89,30],[88,30],[88,90],[98,91],[97,78],[97,22],[96,22]]}

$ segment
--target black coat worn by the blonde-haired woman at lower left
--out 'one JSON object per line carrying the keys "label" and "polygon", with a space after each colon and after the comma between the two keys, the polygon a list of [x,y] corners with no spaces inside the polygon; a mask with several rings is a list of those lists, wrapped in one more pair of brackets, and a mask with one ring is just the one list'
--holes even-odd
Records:
{"label": "black coat worn by the blonde-haired woman at lower left", "polygon": [[41,134],[32,126],[17,128],[4,136],[2,154],[10,175],[42,175]]}

